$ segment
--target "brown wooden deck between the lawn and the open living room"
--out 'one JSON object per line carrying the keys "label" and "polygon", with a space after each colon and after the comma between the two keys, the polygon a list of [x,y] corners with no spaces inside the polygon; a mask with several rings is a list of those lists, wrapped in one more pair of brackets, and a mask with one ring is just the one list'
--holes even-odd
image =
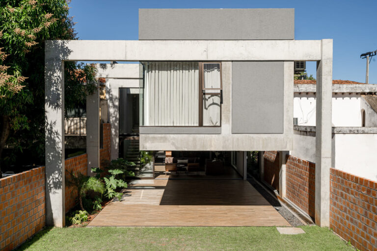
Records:
{"label": "brown wooden deck between the lawn and the open living room", "polygon": [[290,226],[245,180],[138,180],[88,226]]}

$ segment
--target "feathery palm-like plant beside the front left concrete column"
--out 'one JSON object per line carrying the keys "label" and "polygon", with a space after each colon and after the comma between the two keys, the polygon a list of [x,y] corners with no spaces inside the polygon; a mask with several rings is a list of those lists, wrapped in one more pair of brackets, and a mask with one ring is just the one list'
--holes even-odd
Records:
{"label": "feathery palm-like plant beside the front left concrete column", "polygon": [[66,171],[66,180],[69,186],[76,187],[82,211],[85,210],[82,200],[88,192],[91,191],[100,195],[105,193],[105,185],[102,180],[97,177],[89,177],[81,173],[74,174],[73,172]]}

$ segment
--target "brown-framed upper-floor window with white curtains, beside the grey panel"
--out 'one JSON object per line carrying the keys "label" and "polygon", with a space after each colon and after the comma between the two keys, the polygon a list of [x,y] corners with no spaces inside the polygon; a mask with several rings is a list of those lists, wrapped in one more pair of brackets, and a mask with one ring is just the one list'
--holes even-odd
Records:
{"label": "brown-framed upper-floor window with white curtains, beside the grey panel", "polygon": [[220,126],[221,63],[145,62],[142,126]]}

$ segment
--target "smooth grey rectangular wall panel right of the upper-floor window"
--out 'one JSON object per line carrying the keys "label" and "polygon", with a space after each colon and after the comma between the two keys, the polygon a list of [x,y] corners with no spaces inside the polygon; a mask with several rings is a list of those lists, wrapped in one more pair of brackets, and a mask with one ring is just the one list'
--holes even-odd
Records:
{"label": "smooth grey rectangular wall panel right of the upper-floor window", "polygon": [[283,133],[283,62],[233,62],[232,133]]}

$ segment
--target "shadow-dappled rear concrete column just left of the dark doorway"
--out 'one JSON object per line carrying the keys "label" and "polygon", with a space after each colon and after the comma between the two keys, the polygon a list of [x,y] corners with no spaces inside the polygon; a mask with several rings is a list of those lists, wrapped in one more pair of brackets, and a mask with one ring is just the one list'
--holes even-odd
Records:
{"label": "shadow-dappled rear concrete column just left of the dark doorway", "polygon": [[111,81],[113,78],[106,79],[106,99],[111,124],[110,160],[113,160],[119,157],[119,87],[111,87]]}

